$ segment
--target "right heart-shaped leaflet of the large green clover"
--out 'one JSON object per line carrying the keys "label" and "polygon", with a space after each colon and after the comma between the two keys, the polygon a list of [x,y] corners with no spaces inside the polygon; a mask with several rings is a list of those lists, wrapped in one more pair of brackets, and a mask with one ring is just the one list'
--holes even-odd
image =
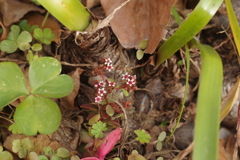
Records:
{"label": "right heart-shaped leaflet of the large green clover", "polygon": [[41,57],[34,60],[29,67],[31,93],[61,98],[70,94],[74,83],[70,76],[59,75],[62,66],[58,60],[51,57]]}

